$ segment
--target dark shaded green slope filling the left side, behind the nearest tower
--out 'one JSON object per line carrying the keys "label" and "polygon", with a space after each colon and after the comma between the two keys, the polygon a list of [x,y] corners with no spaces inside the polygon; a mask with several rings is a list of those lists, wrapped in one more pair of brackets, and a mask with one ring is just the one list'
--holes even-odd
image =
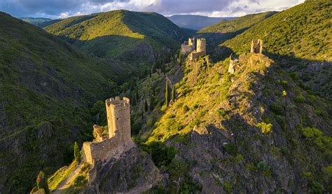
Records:
{"label": "dark shaded green slope filling the left side, behind the nearest tower", "polygon": [[6,13],[0,48],[0,185],[27,193],[40,169],[69,162],[73,142],[90,137],[88,106],[116,93],[127,65],[88,58]]}

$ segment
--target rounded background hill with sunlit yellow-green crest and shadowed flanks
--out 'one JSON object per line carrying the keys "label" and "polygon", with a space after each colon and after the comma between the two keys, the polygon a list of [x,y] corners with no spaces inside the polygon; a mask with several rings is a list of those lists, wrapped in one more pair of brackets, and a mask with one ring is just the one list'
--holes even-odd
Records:
{"label": "rounded background hill with sunlit yellow-green crest and shadowed flanks", "polygon": [[[146,59],[177,48],[184,36],[179,27],[158,13],[123,10],[67,18],[45,29],[89,53],[127,60],[134,60],[133,55]],[[141,46],[146,55],[139,52]]]}

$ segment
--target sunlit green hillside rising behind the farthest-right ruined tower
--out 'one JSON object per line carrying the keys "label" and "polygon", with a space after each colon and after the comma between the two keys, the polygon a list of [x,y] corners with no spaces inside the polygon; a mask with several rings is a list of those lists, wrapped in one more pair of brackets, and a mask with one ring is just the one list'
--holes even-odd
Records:
{"label": "sunlit green hillside rising behind the farthest-right ruined tower", "polygon": [[331,1],[306,1],[263,20],[221,48],[223,53],[244,53],[251,39],[263,39],[267,55],[298,74],[304,85],[332,99],[331,11]]}

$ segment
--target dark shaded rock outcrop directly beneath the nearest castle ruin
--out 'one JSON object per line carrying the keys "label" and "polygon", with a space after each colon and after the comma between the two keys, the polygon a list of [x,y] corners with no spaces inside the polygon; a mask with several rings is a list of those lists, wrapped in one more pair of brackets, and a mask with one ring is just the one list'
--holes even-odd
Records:
{"label": "dark shaded rock outcrop directly beneath the nearest castle ruin", "polygon": [[83,193],[140,193],[161,179],[151,157],[136,146],[111,158],[97,162],[89,172],[89,182]]}

